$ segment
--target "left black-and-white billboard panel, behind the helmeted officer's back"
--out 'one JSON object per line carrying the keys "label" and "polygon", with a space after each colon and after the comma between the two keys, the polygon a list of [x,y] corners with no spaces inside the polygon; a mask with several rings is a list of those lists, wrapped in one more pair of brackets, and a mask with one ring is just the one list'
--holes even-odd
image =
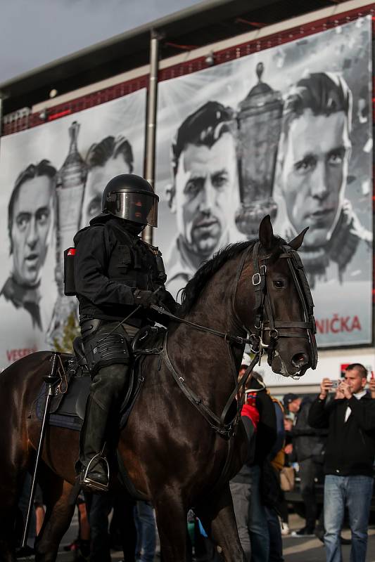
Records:
{"label": "left black-and-white billboard panel, behind the helmeted officer's back", "polygon": [[143,173],[146,90],[1,139],[0,368],[60,341],[63,251],[117,174]]}

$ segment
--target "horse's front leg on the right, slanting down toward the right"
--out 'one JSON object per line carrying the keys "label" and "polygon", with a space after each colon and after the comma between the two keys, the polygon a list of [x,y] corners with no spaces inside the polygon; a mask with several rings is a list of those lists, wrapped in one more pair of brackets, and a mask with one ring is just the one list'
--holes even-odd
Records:
{"label": "horse's front leg on the right, slanting down toward the right", "polygon": [[222,548],[225,562],[246,562],[239,540],[229,484],[194,511],[212,540]]}

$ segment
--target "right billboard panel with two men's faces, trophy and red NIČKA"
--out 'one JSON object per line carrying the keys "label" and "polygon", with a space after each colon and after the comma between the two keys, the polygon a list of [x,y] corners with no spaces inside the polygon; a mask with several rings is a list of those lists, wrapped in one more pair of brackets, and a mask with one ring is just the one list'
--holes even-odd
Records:
{"label": "right billboard panel with two men's faces, trophy and red NI\u010cKA", "polygon": [[319,346],[371,342],[371,17],[163,81],[159,228],[175,295],[262,216],[300,250]]}

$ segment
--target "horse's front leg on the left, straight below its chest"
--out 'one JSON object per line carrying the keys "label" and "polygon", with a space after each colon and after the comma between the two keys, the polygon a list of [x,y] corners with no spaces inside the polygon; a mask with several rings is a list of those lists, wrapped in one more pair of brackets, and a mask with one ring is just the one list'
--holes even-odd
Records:
{"label": "horse's front leg on the left, straight below its chest", "polygon": [[186,562],[187,509],[177,490],[153,497],[163,562]]}

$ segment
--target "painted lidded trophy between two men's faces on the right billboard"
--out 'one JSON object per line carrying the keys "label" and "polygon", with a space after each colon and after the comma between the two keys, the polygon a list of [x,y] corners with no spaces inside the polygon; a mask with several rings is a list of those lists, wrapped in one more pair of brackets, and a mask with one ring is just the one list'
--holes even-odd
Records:
{"label": "painted lidded trophy between two men's faces on the right billboard", "polygon": [[260,221],[277,215],[272,192],[281,132],[281,93],[262,81],[263,63],[258,63],[258,84],[239,104],[237,112],[239,188],[241,207],[235,221],[248,237],[257,235]]}

